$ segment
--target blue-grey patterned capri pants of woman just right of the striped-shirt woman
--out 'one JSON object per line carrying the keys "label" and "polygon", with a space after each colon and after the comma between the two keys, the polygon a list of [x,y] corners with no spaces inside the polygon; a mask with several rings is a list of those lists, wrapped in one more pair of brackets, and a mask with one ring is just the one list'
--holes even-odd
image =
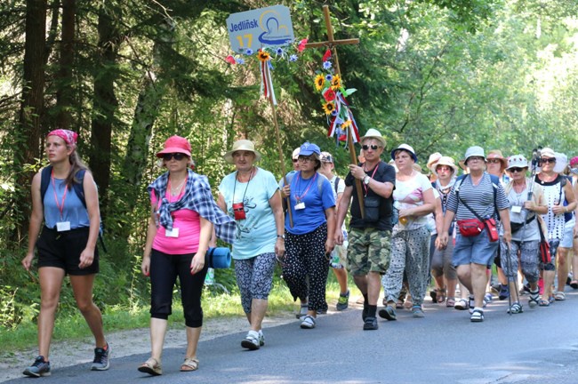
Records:
{"label": "blue-grey patterned capri pants of woman just right of the striped-shirt woman", "polygon": [[[520,264],[522,266],[522,273],[526,276],[528,283],[533,284],[538,281],[540,272],[538,271],[539,263],[539,248],[540,242],[538,240],[526,241],[520,243],[513,240],[510,244],[510,252],[508,252],[508,244],[502,239],[500,240],[500,249],[502,253],[501,263],[504,274],[509,279],[518,278],[518,252],[520,254]],[[510,263],[508,260],[510,259]],[[511,264],[511,270],[510,266]]]}

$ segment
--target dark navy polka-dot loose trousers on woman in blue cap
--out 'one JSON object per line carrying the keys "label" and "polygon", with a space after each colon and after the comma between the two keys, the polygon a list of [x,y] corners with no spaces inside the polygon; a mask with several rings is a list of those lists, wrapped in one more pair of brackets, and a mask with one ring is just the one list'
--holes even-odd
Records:
{"label": "dark navy polka-dot loose trousers on woman in blue cap", "polygon": [[299,298],[307,301],[309,297],[309,310],[326,308],[325,284],[329,271],[329,260],[325,256],[327,224],[324,223],[305,235],[285,232],[285,236],[283,278],[293,300]]}

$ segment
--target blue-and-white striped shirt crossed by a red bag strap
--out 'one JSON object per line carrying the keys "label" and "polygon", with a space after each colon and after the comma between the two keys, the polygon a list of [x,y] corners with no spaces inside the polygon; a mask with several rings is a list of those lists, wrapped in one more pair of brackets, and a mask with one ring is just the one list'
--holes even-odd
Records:
{"label": "blue-and-white striped shirt crossed by a red bag strap", "polygon": [[497,206],[494,209],[494,187],[489,173],[484,172],[484,176],[477,186],[474,186],[471,183],[470,176],[465,176],[462,180],[457,180],[455,182],[454,188],[452,188],[452,192],[450,192],[450,196],[447,199],[446,209],[455,213],[456,220],[477,218],[475,214],[470,212],[470,210],[462,204],[462,202],[459,202],[460,204],[458,204],[458,197],[455,195],[455,188],[459,188],[460,190],[460,200],[466,202],[466,204],[468,204],[470,208],[478,213],[478,215],[483,219],[494,216],[495,209],[501,211],[510,208],[508,197],[506,197],[502,185],[499,184],[495,196],[495,204]]}

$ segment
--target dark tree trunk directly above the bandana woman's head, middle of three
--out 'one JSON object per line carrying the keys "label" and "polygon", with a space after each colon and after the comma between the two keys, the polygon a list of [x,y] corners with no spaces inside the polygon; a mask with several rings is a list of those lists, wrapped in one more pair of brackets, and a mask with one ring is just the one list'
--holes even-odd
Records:
{"label": "dark tree trunk directly above the bandana woman's head, middle of three", "polygon": [[62,0],[62,35],[60,42],[60,68],[56,74],[56,105],[59,128],[70,129],[72,116],[70,114],[74,100],[72,86],[72,66],[74,61],[76,0]]}

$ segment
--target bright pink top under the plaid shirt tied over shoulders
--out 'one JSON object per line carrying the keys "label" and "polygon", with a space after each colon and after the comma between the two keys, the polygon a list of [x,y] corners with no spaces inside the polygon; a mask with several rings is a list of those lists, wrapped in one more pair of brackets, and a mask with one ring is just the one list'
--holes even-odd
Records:
{"label": "bright pink top under the plaid shirt tied over shoulders", "polygon": [[[181,191],[179,196],[170,196],[167,189],[165,197],[169,202],[179,200],[185,193],[185,189]],[[157,206],[157,196],[151,194],[150,203],[152,206]],[[183,209],[172,212],[173,214],[173,228],[179,228],[179,237],[165,236],[165,227],[159,226],[157,228],[157,235],[153,241],[153,248],[159,252],[168,254],[187,254],[196,253],[198,251],[198,240],[201,235],[201,220],[198,212]]]}

